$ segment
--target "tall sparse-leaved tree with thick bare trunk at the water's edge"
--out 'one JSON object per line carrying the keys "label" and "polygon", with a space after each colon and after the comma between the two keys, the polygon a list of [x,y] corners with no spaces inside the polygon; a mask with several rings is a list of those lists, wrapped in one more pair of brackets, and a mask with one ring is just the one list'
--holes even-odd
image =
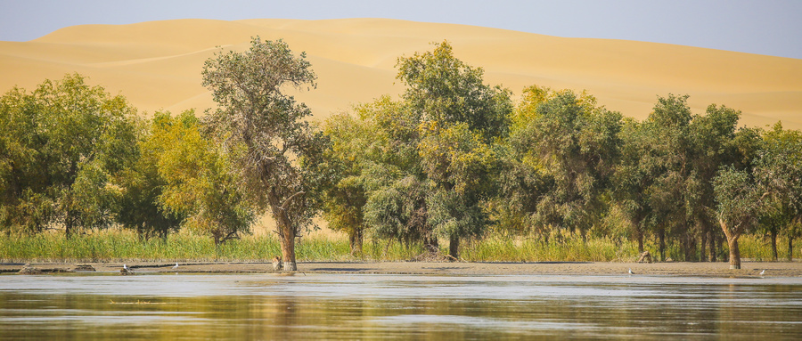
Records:
{"label": "tall sparse-leaved tree with thick bare trunk at the water's edge", "polygon": [[307,196],[311,175],[302,167],[323,149],[323,139],[303,118],[311,111],[283,93],[286,87],[315,87],[306,54],[292,54],[282,40],[251,38],[250,49],[216,53],[204,63],[202,85],[217,110],[206,117],[225,149],[238,150],[235,165],[260,210],[269,208],[280,237],[284,269],[295,271],[295,237],[312,224]]}

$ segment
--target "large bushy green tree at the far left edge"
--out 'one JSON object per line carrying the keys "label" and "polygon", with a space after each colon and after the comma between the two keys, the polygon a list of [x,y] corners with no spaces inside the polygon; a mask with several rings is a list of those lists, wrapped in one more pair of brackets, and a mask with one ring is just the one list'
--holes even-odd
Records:
{"label": "large bushy green tree at the far left edge", "polygon": [[41,231],[113,223],[112,180],[135,158],[136,110],[78,74],[4,95],[0,152],[4,225]]}

